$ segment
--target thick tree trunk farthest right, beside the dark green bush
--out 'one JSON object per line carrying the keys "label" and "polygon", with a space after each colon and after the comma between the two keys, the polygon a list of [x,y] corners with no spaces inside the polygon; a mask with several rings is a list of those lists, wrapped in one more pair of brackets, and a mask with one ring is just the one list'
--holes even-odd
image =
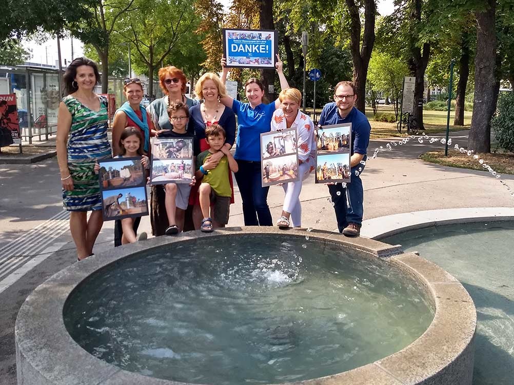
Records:
{"label": "thick tree trunk farthest right, beside the dark green bush", "polygon": [[475,92],[468,148],[477,153],[491,151],[491,117],[498,100],[498,81],[494,75],[497,59],[494,27],[496,2],[486,0],[486,3],[488,8],[475,14]]}

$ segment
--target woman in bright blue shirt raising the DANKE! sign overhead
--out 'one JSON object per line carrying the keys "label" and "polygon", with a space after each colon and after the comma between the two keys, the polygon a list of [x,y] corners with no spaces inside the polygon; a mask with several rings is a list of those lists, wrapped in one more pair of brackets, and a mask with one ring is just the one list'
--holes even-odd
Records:
{"label": "woman in bright blue shirt raising the DANKE! sign overhead", "polygon": [[[226,60],[222,58],[222,82],[227,80],[229,69],[225,66]],[[289,84],[282,71],[282,61],[277,55],[277,73],[282,89],[289,88]],[[234,159],[237,161],[239,171],[235,173],[235,180],[243,200],[243,217],[245,226],[271,226],[272,219],[268,207],[268,187],[262,187],[261,167],[261,133],[270,131],[273,111],[280,106],[277,99],[269,104],[263,103],[264,86],[259,79],[250,78],[245,83],[246,97],[249,103],[241,103],[227,96],[221,102],[232,108],[237,115],[237,138],[235,142]]]}

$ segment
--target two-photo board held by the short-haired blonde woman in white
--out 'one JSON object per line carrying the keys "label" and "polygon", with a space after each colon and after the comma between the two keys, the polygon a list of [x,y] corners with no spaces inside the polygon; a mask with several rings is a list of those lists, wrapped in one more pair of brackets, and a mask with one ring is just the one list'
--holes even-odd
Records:
{"label": "two-photo board held by the short-haired blonde woman in white", "polygon": [[261,133],[262,186],[296,182],[298,178],[296,129]]}

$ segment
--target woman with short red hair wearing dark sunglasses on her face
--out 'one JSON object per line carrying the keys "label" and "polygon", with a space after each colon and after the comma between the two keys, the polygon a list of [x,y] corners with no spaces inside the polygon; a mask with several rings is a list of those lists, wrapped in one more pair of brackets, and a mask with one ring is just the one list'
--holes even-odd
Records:
{"label": "woman with short red hair wearing dark sunglasses on her face", "polygon": [[[198,101],[188,98],[184,93],[186,92],[186,75],[177,67],[166,66],[159,69],[159,85],[164,93],[164,97],[154,100],[148,106],[152,121],[155,125],[155,134],[169,134],[173,129],[173,124],[170,121],[168,108],[173,103],[182,103],[191,108]],[[188,136],[193,137],[194,131],[187,130]],[[154,236],[164,235],[168,227],[168,217],[166,215],[166,207],[164,200],[166,199],[166,192],[163,185],[153,185],[151,189],[151,207],[150,221],[152,223],[152,234]],[[191,211],[188,210],[185,214],[184,230],[193,229]]]}

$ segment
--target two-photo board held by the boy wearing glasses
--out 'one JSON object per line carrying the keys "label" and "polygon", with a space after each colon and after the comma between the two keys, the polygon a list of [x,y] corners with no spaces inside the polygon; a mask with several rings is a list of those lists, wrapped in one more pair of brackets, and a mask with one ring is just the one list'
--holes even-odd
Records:
{"label": "two-photo board held by the boy wearing glasses", "polygon": [[154,137],[151,145],[150,184],[191,183],[193,137]]}

